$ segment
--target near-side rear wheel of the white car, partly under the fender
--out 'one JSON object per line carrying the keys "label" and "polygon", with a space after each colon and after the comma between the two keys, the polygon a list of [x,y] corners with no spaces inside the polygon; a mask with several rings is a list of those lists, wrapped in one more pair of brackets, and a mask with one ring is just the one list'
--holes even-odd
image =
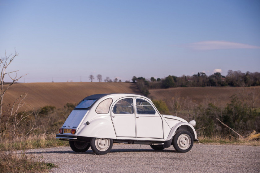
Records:
{"label": "near-side rear wheel of the white car, partly under the fender", "polygon": [[112,149],[112,146],[112,139],[92,138],[90,141],[90,147],[96,154],[107,154]]}

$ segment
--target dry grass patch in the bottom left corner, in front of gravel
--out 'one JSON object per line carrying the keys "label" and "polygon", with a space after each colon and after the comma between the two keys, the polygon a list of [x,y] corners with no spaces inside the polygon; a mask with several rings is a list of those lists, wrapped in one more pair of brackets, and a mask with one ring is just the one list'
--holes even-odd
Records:
{"label": "dry grass patch in the bottom left corner, in front of gravel", "polygon": [[0,172],[47,172],[56,167],[53,163],[42,162],[24,153],[0,150]]}

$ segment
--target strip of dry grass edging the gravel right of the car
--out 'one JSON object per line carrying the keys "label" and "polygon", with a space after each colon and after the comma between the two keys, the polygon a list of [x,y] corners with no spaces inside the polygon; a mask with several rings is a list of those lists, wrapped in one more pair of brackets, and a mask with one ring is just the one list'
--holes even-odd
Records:
{"label": "strip of dry grass edging the gravel right of the car", "polygon": [[236,139],[230,137],[198,137],[199,143],[202,144],[232,144],[232,145],[250,145],[250,146],[260,146],[260,141],[258,140],[245,140]]}

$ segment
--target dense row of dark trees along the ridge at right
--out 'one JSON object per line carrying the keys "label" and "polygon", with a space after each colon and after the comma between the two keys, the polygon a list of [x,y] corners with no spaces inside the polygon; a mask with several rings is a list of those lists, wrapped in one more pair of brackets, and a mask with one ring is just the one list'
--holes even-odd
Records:
{"label": "dense row of dark trees along the ridge at right", "polygon": [[221,75],[217,72],[210,76],[207,76],[203,72],[198,72],[193,76],[167,76],[165,78],[151,77],[145,79],[144,77],[132,78],[133,83],[137,84],[137,87],[144,95],[149,94],[149,89],[160,88],[173,88],[173,87],[211,87],[211,86],[231,86],[231,87],[249,87],[260,85],[260,73],[249,72],[242,73],[240,70],[227,72],[227,76]]}

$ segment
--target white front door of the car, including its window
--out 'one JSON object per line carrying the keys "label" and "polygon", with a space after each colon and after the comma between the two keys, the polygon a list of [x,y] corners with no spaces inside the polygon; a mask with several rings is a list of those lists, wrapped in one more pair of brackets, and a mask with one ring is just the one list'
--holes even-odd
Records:
{"label": "white front door of the car, including its window", "polygon": [[163,138],[163,121],[152,104],[135,97],[137,138]]}

